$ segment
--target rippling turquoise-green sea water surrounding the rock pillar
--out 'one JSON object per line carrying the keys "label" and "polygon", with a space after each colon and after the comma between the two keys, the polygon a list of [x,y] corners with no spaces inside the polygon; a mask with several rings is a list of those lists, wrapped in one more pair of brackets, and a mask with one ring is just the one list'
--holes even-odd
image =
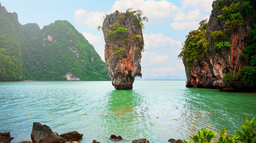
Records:
{"label": "rippling turquoise-green sea water surrounding the rock pillar", "polygon": [[10,131],[12,143],[31,140],[32,124],[40,122],[58,134],[78,131],[79,143],[114,142],[111,134],[121,135],[120,143],[168,143],[189,140],[207,126],[231,135],[245,117],[256,116],[255,93],[186,88],[185,81],[135,81],[133,87],[115,90],[110,81],[0,82],[0,132]]}

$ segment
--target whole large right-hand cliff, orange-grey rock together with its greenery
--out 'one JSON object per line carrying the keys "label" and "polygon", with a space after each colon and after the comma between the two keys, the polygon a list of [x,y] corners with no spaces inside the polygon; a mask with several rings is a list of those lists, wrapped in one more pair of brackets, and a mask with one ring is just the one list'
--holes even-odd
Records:
{"label": "whole large right-hand cliff, orange-grey rock together with its greenery", "polygon": [[186,36],[179,55],[186,87],[255,92],[255,2],[216,0],[212,8],[209,21]]}

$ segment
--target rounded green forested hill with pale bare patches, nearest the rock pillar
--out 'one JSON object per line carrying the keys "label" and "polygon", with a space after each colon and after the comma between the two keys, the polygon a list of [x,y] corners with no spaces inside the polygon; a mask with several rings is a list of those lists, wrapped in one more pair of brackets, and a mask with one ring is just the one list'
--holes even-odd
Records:
{"label": "rounded green forested hill with pale bare patches, nearest the rock pillar", "polygon": [[44,26],[28,48],[27,80],[108,80],[105,64],[81,33],[68,21]]}

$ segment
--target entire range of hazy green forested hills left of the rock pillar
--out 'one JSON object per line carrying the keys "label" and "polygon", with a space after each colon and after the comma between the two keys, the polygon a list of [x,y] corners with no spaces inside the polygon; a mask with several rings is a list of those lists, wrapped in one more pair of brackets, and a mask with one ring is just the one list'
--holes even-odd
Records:
{"label": "entire range of hazy green forested hills left of the rock pillar", "polygon": [[109,80],[93,45],[68,21],[40,30],[19,24],[17,13],[0,4],[0,25],[0,81]]}

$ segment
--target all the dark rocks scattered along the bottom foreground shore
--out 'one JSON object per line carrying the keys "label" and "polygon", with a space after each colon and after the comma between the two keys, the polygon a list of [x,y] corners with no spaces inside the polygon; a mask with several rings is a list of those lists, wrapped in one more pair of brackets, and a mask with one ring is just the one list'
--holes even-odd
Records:
{"label": "all the dark rocks scattered along the bottom foreground shore", "polygon": [[[72,131],[64,134],[58,135],[58,133],[53,132],[51,128],[47,125],[42,125],[38,122],[33,122],[31,140],[22,140],[19,143],[78,143],[83,134],[79,134],[77,131]],[[10,132],[0,133],[0,143],[10,143],[14,137],[11,137]],[[111,135],[110,140],[119,141],[122,137]],[[168,142],[171,143],[183,143],[181,139],[169,139]],[[93,140],[92,143],[100,143],[99,141]],[[146,138],[135,139],[132,143],[149,143]]]}

